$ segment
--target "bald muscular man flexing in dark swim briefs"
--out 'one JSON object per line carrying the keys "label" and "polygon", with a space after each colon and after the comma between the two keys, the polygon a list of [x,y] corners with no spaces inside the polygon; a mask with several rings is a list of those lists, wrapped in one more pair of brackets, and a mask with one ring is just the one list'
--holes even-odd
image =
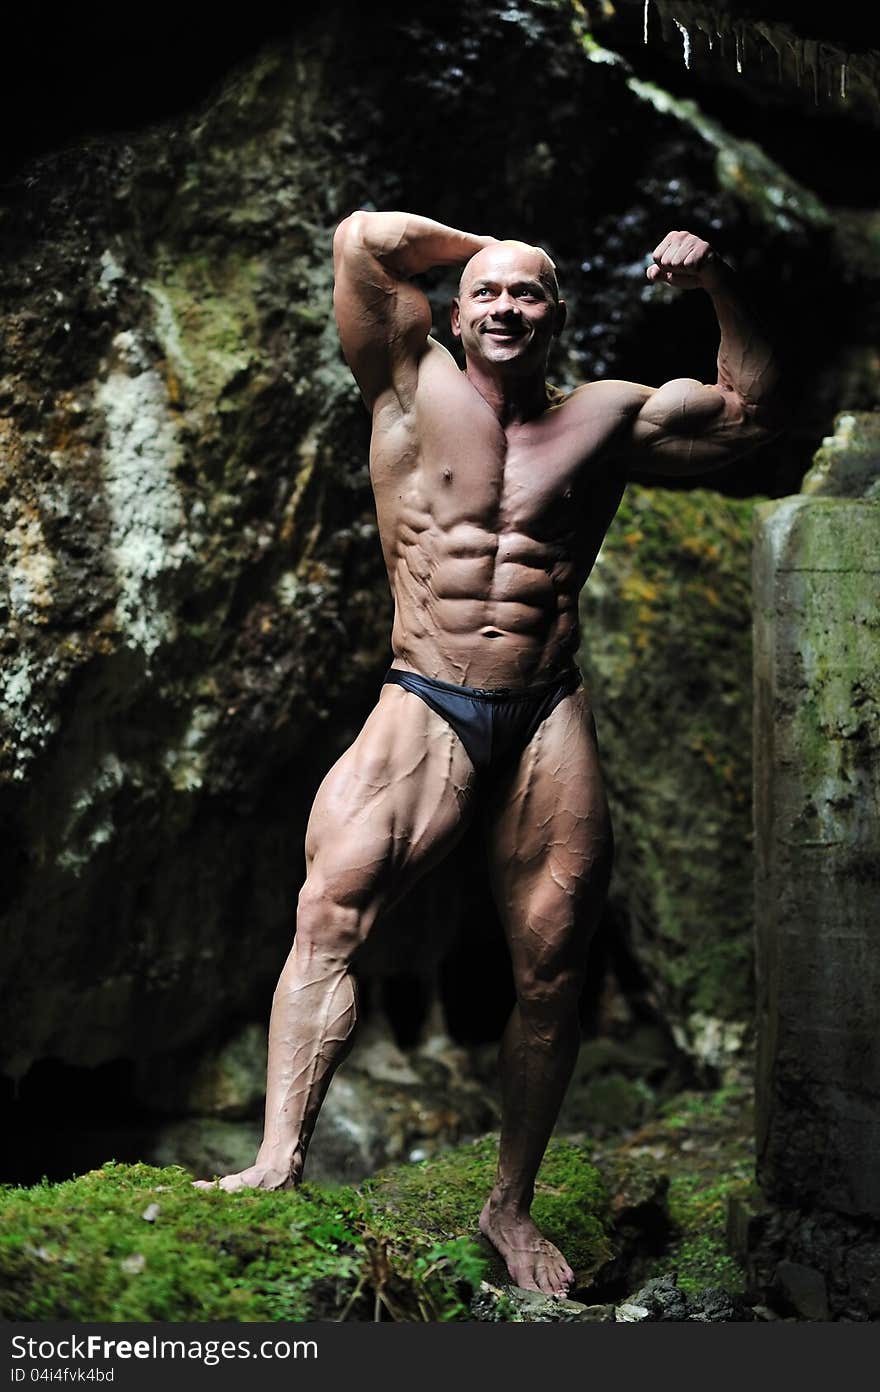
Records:
{"label": "bald muscular man flexing in dark swim briefs", "polygon": [[[764,438],[771,354],[731,269],[685,231],[660,242],[647,278],[712,295],[721,330],[712,386],[549,387],[565,305],[536,246],[361,212],[340,224],[334,259],[343,352],[373,422],[394,660],[315,799],[269,1026],[263,1141],[255,1165],[220,1186],[299,1182],[351,1044],[358,949],[476,821],[517,990],[501,1044],[498,1169],[479,1226],[517,1285],[565,1295],[572,1271],[529,1214],[578,1052],[613,851],[575,665],[578,596],[629,469],[703,472]],[[430,337],[411,280],[455,263],[465,263],[451,310],[464,370]]]}

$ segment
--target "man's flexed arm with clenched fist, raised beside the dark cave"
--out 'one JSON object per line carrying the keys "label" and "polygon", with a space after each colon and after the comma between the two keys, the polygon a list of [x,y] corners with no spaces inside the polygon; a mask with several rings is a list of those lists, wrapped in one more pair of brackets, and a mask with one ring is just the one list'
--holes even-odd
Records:
{"label": "man's flexed arm with clenched fist, raised beside the dark cave", "polygon": [[627,464],[639,473],[703,473],[778,434],[777,362],[737,273],[709,242],[681,231],[654,249],[647,278],[712,296],[721,330],[718,377],[714,384],[692,377],[654,388],[629,384],[638,395],[629,398]]}

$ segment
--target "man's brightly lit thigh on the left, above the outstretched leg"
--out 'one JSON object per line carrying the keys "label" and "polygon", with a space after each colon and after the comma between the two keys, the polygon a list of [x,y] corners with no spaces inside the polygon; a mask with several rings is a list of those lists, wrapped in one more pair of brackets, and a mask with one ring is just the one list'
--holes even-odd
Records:
{"label": "man's brightly lit thigh on the left, above the outstretched leg", "polygon": [[473,767],[425,702],[384,685],[355,742],[317,789],[306,864],[341,902],[398,898],[464,832]]}

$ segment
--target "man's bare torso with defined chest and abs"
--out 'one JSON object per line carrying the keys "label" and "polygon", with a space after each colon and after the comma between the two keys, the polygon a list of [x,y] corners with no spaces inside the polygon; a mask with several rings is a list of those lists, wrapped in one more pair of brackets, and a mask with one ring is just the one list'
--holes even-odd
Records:
{"label": "man's bare torso with defined chest and abs", "polygon": [[373,415],[370,475],[394,596],[395,667],[528,686],[571,665],[578,596],[624,491],[613,384],[503,427],[437,344],[409,409]]}

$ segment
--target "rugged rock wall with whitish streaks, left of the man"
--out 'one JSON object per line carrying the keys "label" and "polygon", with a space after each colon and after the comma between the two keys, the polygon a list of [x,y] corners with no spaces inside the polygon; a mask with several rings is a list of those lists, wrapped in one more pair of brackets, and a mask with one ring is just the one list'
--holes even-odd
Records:
{"label": "rugged rock wall with whitish streaks, left of the man", "polygon": [[379,679],[326,61],[269,53],[180,128],[43,160],[4,209],[7,1072],[253,1009],[305,809]]}

